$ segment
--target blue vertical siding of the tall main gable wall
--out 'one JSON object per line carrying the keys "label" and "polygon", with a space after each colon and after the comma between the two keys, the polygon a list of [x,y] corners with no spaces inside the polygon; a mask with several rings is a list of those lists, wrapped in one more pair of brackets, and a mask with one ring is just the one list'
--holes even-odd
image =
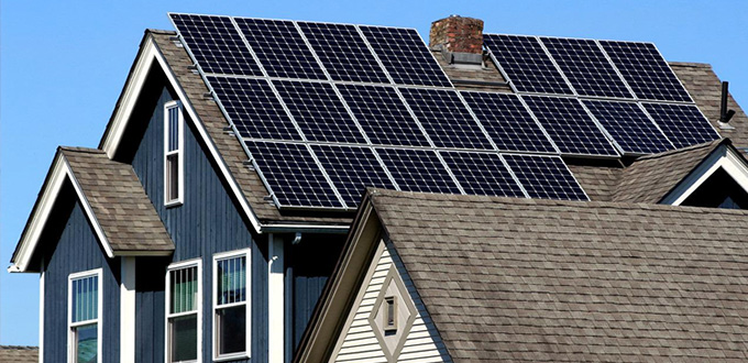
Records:
{"label": "blue vertical siding of the tall main gable wall", "polygon": [[[200,257],[202,260],[202,362],[212,362],[212,257],[213,254],[252,249],[251,256],[251,360],[267,360],[267,241],[257,240],[250,224],[227,191],[206,155],[205,145],[189,128],[185,114],[184,131],[184,204],[164,206],[164,105],[174,95],[167,87],[154,102],[148,124],[135,150],[132,166],[146,195],[156,208],[175,243],[170,258],[139,257],[138,276],[150,271],[147,279],[136,283],[136,337],[139,362],[164,362],[165,295],[164,276],[169,263]],[[161,261],[160,264],[153,262]],[[161,280],[161,282],[157,282]],[[235,360],[232,362],[249,362]]]}

